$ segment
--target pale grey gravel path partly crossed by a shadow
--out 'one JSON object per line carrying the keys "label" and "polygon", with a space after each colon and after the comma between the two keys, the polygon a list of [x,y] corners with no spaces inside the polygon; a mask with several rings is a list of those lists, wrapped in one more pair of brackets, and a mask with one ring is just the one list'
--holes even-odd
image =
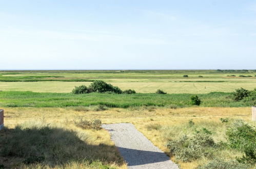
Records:
{"label": "pale grey gravel path partly crossed by a shadow", "polygon": [[179,168],[131,123],[103,124],[128,168]]}

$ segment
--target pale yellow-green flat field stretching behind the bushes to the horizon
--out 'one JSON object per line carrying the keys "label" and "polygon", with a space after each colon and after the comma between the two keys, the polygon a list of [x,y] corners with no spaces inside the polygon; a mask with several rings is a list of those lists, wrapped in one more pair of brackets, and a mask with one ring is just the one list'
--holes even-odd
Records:
{"label": "pale yellow-green flat field stretching behind the bushes to the horizon", "polygon": [[[183,77],[187,74],[189,77]],[[235,76],[232,76],[235,75]],[[246,77],[240,77],[240,76]],[[256,88],[256,72],[179,71],[0,71],[0,90],[69,93],[74,86],[104,80],[122,90],[200,94]],[[199,77],[203,76],[203,77]],[[248,77],[249,76],[249,77]]]}

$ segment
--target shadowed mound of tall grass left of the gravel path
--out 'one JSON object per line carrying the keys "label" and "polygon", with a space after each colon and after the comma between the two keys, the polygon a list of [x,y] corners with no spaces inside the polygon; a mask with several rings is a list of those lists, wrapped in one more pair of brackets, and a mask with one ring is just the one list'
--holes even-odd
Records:
{"label": "shadowed mound of tall grass left of the gravel path", "polygon": [[[1,131],[0,157],[7,168],[115,168],[123,161],[113,145],[93,145],[87,131],[26,122]],[[8,160],[9,159],[9,160]],[[15,161],[15,162],[14,162]]]}

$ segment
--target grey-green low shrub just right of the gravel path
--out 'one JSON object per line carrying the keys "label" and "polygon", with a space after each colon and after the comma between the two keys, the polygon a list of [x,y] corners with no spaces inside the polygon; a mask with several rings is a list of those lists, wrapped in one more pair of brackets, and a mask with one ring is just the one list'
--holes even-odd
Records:
{"label": "grey-green low shrub just right of the gravel path", "polygon": [[192,137],[185,135],[178,140],[169,141],[167,147],[176,159],[183,162],[191,162],[192,160],[210,155],[214,144],[210,135],[196,133]]}

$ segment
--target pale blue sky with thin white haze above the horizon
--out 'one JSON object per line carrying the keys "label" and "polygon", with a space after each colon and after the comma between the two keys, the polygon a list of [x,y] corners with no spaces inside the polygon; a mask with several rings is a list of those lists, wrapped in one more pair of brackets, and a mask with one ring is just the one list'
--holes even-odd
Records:
{"label": "pale blue sky with thin white haze above the horizon", "polygon": [[256,69],[256,1],[0,0],[0,70]]}

